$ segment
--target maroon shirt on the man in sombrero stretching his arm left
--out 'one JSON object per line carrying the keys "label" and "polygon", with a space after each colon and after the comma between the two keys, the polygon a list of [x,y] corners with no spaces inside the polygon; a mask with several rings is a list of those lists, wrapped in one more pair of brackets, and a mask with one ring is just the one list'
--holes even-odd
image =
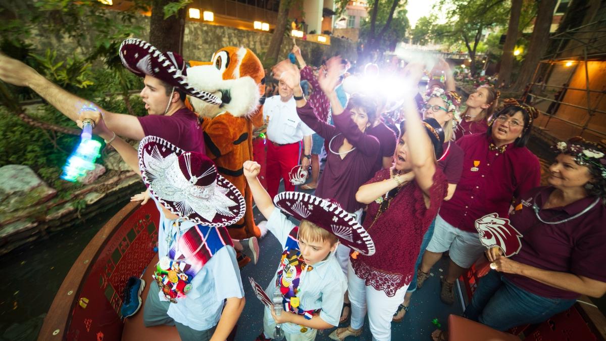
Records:
{"label": "maroon shirt on the man in sombrero stretching his arm left", "polygon": [[145,136],[164,138],[186,152],[206,154],[204,136],[198,124],[198,116],[187,108],[177,110],[173,115],[147,115],[139,117]]}

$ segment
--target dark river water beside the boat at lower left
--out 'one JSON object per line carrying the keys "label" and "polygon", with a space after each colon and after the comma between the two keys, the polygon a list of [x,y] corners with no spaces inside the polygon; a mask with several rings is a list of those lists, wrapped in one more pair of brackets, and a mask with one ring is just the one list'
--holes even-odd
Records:
{"label": "dark river water beside the boat at lower left", "polygon": [[36,340],[65,275],[101,227],[126,203],[0,257],[0,340]]}

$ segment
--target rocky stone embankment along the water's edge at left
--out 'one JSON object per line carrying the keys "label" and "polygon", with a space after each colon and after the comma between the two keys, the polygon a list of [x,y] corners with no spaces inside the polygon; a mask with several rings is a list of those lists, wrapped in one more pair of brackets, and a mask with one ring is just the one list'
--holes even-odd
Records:
{"label": "rocky stone embankment along the water's edge at left", "polygon": [[59,229],[86,225],[87,218],[145,189],[117,153],[104,163],[79,179],[84,186],[62,195],[28,166],[0,167],[0,255]]}

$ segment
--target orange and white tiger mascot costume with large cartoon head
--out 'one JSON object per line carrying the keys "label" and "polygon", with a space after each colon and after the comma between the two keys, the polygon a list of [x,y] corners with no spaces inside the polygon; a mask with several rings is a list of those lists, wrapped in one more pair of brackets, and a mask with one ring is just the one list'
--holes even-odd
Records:
{"label": "orange and white tiger mascot costume with large cartoon head", "polygon": [[217,106],[188,98],[201,120],[206,154],[219,174],[231,181],[246,200],[244,218],[227,226],[229,234],[234,239],[261,237],[242,164],[253,159],[253,125],[263,124],[265,70],[255,53],[244,47],[224,47],[213,54],[210,62],[190,61],[190,65],[188,82],[222,100]]}

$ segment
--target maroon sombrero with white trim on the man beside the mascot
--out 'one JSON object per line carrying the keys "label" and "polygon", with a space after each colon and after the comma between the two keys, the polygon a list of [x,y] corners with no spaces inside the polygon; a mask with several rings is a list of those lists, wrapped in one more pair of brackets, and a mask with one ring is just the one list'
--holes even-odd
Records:
{"label": "maroon sombrero with white trim on the man beside the mascot", "polygon": [[221,98],[191,86],[187,81],[185,62],[177,53],[162,53],[147,41],[128,38],[120,45],[119,54],[124,67],[139,77],[152,76],[183,90],[187,95],[210,104],[221,104]]}

